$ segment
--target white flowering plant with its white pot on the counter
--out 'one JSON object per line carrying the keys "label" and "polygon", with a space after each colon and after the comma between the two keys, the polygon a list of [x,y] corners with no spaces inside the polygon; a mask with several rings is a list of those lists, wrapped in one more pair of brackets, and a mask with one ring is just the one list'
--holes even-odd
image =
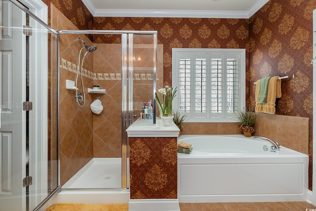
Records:
{"label": "white flowering plant with its white pot on the counter", "polygon": [[176,96],[177,87],[173,88],[168,85],[163,88],[158,89],[158,93],[161,96],[159,99],[157,92],[155,93],[156,100],[161,110],[161,119],[163,122],[163,126],[171,126],[172,122],[172,100]]}

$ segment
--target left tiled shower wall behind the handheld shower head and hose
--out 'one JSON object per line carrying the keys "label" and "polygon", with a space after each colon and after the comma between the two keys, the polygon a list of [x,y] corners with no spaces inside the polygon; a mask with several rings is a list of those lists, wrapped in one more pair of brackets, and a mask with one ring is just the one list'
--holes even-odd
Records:
{"label": "left tiled shower wall behind the handheld shower head and hose", "polygon": [[[52,6],[51,17],[52,28],[56,30],[78,29],[54,6]],[[66,79],[72,81],[76,79],[78,55],[82,47],[82,43],[78,42],[78,37],[78,35],[60,35],[59,144],[61,185],[93,157],[93,116],[90,111],[92,96],[87,92],[85,93],[85,106],[81,108],[74,97],[76,92],[66,89]],[[86,37],[81,36],[80,38],[91,45]],[[86,57],[83,68],[92,72],[92,55]],[[92,87],[93,80],[91,78],[83,77],[83,80],[87,87]],[[78,82],[78,87],[82,90],[80,78]]]}

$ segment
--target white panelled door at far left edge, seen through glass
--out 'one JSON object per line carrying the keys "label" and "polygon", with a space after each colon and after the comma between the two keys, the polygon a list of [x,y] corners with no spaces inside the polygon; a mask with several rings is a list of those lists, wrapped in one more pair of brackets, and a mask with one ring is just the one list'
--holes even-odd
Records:
{"label": "white panelled door at far left edge, seen through glass", "polygon": [[25,13],[0,2],[0,211],[26,210]]}

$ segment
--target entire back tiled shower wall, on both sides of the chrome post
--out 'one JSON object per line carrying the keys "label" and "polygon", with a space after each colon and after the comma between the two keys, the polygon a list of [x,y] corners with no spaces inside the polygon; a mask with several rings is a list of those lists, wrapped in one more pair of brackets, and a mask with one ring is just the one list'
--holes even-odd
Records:
{"label": "entire back tiled shower wall, on both sides of the chrome post", "polygon": [[[94,54],[94,85],[106,89],[100,96],[104,110],[100,115],[93,115],[93,157],[121,157],[121,44],[95,44],[98,52]],[[157,86],[162,85],[162,45],[158,45]],[[134,51],[141,58],[134,62],[134,102],[143,104],[153,98],[152,71],[147,70],[148,50],[152,45],[134,45]],[[139,71],[140,70],[140,71]],[[143,77],[144,76],[144,77]],[[139,90],[139,91],[135,91]],[[136,103],[135,103],[136,104]],[[134,105],[134,114],[139,118],[141,108]]]}

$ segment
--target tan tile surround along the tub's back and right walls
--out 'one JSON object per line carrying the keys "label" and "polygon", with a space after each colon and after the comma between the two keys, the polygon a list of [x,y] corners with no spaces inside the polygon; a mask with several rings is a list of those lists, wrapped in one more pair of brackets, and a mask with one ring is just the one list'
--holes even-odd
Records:
{"label": "tan tile surround along the tub's back and right walls", "polygon": [[[265,136],[280,145],[308,154],[309,118],[257,113],[254,136]],[[237,123],[184,123],[183,135],[242,134]]]}

